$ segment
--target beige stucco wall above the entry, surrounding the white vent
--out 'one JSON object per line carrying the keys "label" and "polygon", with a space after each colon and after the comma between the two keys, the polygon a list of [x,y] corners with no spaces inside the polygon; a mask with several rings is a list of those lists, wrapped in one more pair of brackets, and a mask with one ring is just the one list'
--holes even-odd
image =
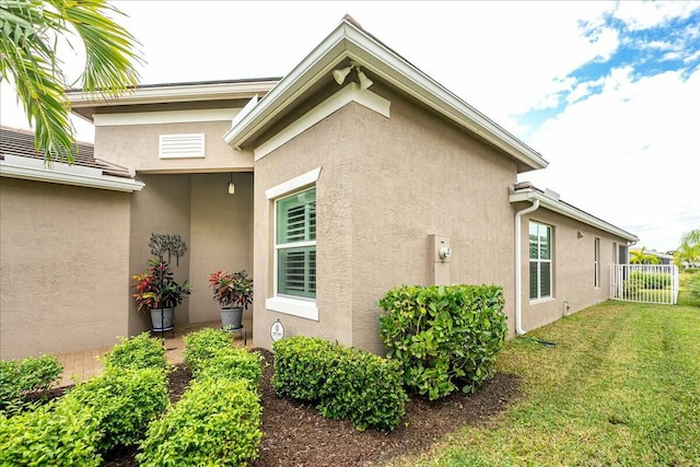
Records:
{"label": "beige stucco wall above the entry, surrounding the white vent", "polygon": [[[250,171],[253,154],[223,140],[230,127],[231,120],[96,127],[95,157],[139,172]],[[206,156],[159,159],[159,137],[172,133],[205,133]]]}

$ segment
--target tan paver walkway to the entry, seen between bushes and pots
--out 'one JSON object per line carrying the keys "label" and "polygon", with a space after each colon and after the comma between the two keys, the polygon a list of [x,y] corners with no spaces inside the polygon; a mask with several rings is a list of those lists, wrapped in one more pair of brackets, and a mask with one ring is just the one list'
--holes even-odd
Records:
{"label": "tan paver walkway to the entry, seen between bushes and pots", "polygon": [[[243,317],[243,325],[247,331],[247,347],[252,349],[253,346],[253,317],[250,314],[245,314]],[[178,326],[175,325],[175,332],[165,332],[165,349],[167,353],[167,360],[173,363],[183,362],[183,350],[185,350],[185,342],[183,337],[203,329],[206,327],[219,329],[221,328],[221,322],[197,323],[191,325]],[[232,332],[234,345],[244,347],[243,332]],[[154,334],[154,337],[160,338],[160,334]],[[102,358],[106,352],[110,351],[112,347],[103,347],[100,349],[84,350],[82,352],[62,353],[56,355],[63,365],[63,373],[61,381],[56,385],[57,387],[70,386],[75,383],[80,383],[90,380],[92,376],[100,374],[104,370],[102,364]]]}

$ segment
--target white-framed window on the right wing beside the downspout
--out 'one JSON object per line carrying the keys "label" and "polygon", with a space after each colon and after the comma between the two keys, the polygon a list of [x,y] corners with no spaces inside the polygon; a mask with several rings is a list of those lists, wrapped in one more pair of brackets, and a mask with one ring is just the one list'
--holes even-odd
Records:
{"label": "white-framed window on the right wing beside the downspout", "polygon": [[529,297],[551,296],[551,226],[529,223]]}

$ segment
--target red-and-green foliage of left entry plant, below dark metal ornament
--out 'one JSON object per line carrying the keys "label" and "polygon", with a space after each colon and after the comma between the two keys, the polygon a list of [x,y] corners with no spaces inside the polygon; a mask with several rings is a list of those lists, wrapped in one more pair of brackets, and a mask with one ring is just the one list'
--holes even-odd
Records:
{"label": "red-and-green foliage of left entry plant, below dark metal ornament", "polygon": [[172,308],[183,303],[185,295],[191,293],[188,281],[178,284],[173,278],[173,270],[167,261],[149,260],[149,269],[142,275],[135,275],[133,294],[137,311],[148,313],[151,310]]}

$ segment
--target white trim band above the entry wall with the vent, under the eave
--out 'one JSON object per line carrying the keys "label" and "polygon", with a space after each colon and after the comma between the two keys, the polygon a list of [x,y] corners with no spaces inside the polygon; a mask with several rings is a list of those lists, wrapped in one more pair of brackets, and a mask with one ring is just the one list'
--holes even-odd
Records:
{"label": "white trim band above the entry wall with the vent, under the eave", "polygon": [[229,121],[241,108],[201,108],[194,110],[133,112],[128,114],[95,114],[95,127],[128,125],[188,124],[200,121]]}

